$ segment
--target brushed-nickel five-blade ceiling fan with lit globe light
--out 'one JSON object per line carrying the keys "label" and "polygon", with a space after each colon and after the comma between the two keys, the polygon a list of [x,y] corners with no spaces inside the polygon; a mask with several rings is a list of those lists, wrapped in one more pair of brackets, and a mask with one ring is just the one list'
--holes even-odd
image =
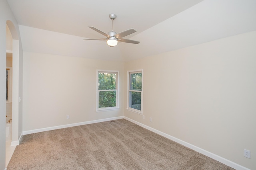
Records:
{"label": "brushed-nickel five-blade ceiling fan with lit globe light", "polygon": [[116,33],[113,31],[113,21],[114,19],[116,19],[116,14],[109,14],[109,18],[112,20],[112,31],[108,32],[108,34],[94,28],[91,26],[88,26],[89,28],[93,29],[94,31],[97,31],[98,33],[105,35],[106,38],[100,38],[100,39],[84,39],[84,40],[107,40],[107,44],[110,47],[114,47],[117,45],[118,41],[120,42],[124,42],[124,43],[132,43],[132,44],[138,44],[140,43],[139,41],[134,41],[134,40],[130,40],[130,39],[124,39],[122,37],[125,37],[127,35],[130,35],[132,33],[135,33],[136,30],[131,28],[128,29],[126,31],[120,32],[120,33]]}

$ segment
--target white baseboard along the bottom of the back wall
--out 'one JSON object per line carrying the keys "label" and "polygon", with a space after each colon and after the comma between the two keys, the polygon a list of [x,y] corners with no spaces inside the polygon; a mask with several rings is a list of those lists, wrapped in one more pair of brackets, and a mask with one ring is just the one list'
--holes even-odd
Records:
{"label": "white baseboard along the bottom of the back wall", "polygon": [[99,119],[99,120],[93,120],[93,121],[84,121],[84,122],[72,123],[72,124],[68,124],[68,125],[60,125],[60,126],[46,127],[46,128],[35,129],[35,130],[30,130],[30,131],[23,131],[22,135],[28,135],[28,134],[31,134],[31,133],[38,133],[38,132],[44,132],[44,131],[52,131],[52,130],[55,130],[55,129],[62,129],[62,128],[67,128],[67,127],[80,126],[80,125],[88,125],[88,124],[92,124],[92,123],[99,123],[99,122],[103,122],[103,121],[110,121],[110,120],[116,120],[116,119],[124,119],[124,116],[110,117],[110,118],[106,118],[106,119]]}

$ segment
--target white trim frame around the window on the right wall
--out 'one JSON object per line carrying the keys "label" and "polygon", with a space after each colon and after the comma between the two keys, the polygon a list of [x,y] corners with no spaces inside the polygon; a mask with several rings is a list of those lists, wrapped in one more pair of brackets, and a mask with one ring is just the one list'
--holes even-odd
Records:
{"label": "white trim frame around the window on the right wall", "polygon": [[[134,109],[132,107],[130,107],[130,95],[129,95],[129,91],[130,91],[130,73],[138,73],[141,72],[142,77],[141,77],[141,106],[140,106],[140,110]],[[136,90],[131,90],[131,91],[135,91],[138,92]],[[127,71],[127,104],[126,104],[126,109],[128,111],[132,111],[134,113],[138,113],[140,115],[143,115],[143,69],[138,69],[138,70],[128,70]]]}

